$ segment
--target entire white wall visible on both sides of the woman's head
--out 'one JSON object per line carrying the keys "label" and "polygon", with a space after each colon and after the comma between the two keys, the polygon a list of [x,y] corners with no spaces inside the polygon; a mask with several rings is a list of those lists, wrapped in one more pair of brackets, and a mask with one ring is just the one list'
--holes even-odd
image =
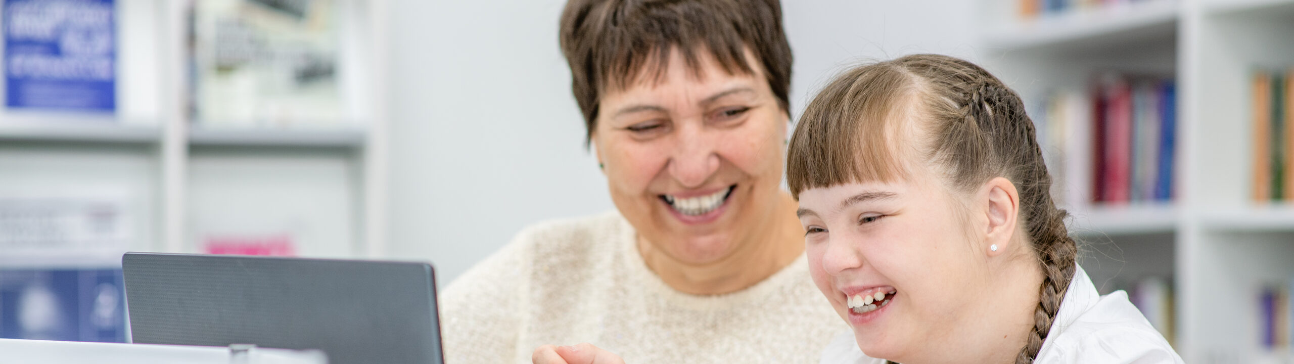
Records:
{"label": "entire white wall visible on both sides of the woman's head", "polygon": [[[784,0],[795,114],[859,58],[973,57],[974,1]],[[441,286],[523,227],[612,209],[558,49],[563,0],[391,5],[391,255]]]}

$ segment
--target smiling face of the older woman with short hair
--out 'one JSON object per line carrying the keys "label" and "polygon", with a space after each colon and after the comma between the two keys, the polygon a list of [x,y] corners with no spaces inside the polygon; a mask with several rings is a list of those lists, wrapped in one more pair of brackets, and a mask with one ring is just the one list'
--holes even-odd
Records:
{"label": "smiling face of the older woman with short hair", "polygon": [[670,52],[660,79],[603,95],[593,142],[612,201],[638,233],[704,264],[776,218],[788,117],[760,62],[729,74],[709,52]]}

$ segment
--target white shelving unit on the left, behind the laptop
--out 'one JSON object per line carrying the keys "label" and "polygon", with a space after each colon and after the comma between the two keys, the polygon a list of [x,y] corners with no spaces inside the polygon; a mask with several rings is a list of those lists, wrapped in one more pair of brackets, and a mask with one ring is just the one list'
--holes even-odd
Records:
{"label": "white shelving unit on the left, behind the laptop", "polygon": [[[202,231],[250,227],[292,232],[300,255],[384,254],[386,74],[373,66],[386,63],[383,1],[336,0],[342,97],[355,122],[326,130],[208,128],[193,120],[185,106],[188,1],[115,6],[116,113],[0,108],[0,189],[127,189],[140,220],[131,250],[198,253]],[[264,220],[282,223],[256,225]]]}

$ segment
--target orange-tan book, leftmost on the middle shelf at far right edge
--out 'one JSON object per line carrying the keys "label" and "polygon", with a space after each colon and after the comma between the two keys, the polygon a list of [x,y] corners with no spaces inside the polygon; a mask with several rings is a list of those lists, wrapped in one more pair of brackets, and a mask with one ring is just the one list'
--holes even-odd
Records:
{"label": "orange-tan book, leftmost on the middle shelf at far right edge", "polygon": [[1272,198],[1272,162],[1271,162],[1271,126],[1272,126],[1272,78],[1266,71],[1256,71],[1253,76],[1253,132],[1254,148],[1251,197],[1255,202],[1269,201]]}

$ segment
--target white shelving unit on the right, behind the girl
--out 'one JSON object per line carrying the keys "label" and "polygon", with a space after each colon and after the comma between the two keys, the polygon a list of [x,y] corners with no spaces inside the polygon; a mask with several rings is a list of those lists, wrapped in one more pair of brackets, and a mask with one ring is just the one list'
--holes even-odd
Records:
{"label": "white shelving unit on the right, behind the girl", "polygon": [[1258,329],[1259,286],[1294,279],[1294,206],[1249,197],[1250,73],[1294,66],[1294,0],[1148,0],[1033,21],[1017,3],[985,1],[983,58],[1026,102],[1100,71],[1178,80],[1175,201],[1069,206],[1091,242],[1080,263],[1099,285],[1171,276],[1187,363],[1294,361],[1262,348]]}

